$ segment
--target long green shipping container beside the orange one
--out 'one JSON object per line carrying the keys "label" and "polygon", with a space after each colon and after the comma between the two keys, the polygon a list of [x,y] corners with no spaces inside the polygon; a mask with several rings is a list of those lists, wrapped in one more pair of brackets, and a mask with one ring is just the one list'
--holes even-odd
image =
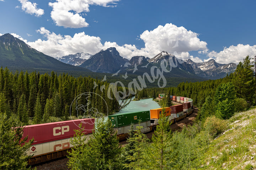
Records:
{"label": "long green shipping container beside the orange one", "polygon": [[108,118],[111,119],[114,128],[119,128],[122,126],[128,126],[130,124],[137,124],[139,123],[139,120],[141,120],[141,122],[149,121],[150,112],[142,111],[123,114],[113,114],[109,115]]}

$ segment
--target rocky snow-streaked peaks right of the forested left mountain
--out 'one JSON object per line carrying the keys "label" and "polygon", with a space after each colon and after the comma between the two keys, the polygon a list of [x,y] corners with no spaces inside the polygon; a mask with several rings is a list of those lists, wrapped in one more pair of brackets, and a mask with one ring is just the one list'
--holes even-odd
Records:
{"label": "rocky snow-streaked peaks right of the forested left mountain", "polygon": [[[68,61],[59,59],[66,63],[71,63],[75,58],[81,58],[80,53],[76,53],[73,58],[69,58]],[[69,55],[71,56],[71,55]],[[89,54],[87,54],[89,56]],[[177,60],[177,58],[169,52],[162,51],[153,58],[145,58],[144,56],[134,56],[130,60],[123,58],[119,55],[119,52],[116,48],[111,47],[107,50],[101,50],[95,55],[91,55],[90,58],[83,63],[76,64],[76,66],[87,68],[93,72],[99,73],[124,73],[134,74],[134,70],[137,71],[137,74],[143,74],[143,72],[150,72],[152,66],[160,68],[160,63],[162,60],[169,61],[171,58],[172,61]],[[186,77],[192,76],[191,74],[198,77],[207,78],[207,79],[219,79],[225,77],[227,74],[230,74],[235,71],[236,64],[220,64],[215,60],[211,59],[207,62],[196,63],[191,59],[181,60],[181,63],[178,63],[177,68],[172,68],[171,74],[167,76],[171,77]],[[136,73],[135,73],[136,74]]]}

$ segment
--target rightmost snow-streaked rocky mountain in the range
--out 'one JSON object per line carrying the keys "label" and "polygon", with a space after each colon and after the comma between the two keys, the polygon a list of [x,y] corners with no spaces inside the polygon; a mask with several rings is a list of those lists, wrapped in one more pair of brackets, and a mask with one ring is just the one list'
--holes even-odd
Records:
{"label": "rightmost snow-streaked rocky mountain in the range", "polygon": [[237,66],[235,63],[220,64],[213,59],[202,63],[195,63],[190,59],[185,62],[191,64],[195,74],[206,78],[223,78],[226,74],[233,73]]}

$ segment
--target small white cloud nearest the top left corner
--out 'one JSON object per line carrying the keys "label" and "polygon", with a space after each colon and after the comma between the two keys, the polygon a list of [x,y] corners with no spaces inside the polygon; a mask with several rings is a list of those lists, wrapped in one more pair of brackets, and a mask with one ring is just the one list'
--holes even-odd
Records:
{"label": "small white cloud nearest the top left corner", "polygon": [[21,2],[21,8],[26,13],[29,13],[31,15],[36,15],[37,17],[42,16],[44,14],[44,10],[37,8],[36,3],[31,3],[28,0],[18,0]]}

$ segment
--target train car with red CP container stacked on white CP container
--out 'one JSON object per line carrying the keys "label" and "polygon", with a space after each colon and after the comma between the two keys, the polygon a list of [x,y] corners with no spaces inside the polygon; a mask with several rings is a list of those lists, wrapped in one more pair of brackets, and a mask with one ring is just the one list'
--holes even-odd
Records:
{"label": "train car with red CP container stacked on white CP container", "polygon": [[27,151],[28,155],[33,155],[28,164],[33,165],[65,156],[68,149],[73,147],[70,137],[74,137],[74,130],[79,129],[79,124],[82,123],[83,132],[88,140],[94,129],[94,122],[95,119],[78,119],[25,126],[23,138],[34,138]]}

